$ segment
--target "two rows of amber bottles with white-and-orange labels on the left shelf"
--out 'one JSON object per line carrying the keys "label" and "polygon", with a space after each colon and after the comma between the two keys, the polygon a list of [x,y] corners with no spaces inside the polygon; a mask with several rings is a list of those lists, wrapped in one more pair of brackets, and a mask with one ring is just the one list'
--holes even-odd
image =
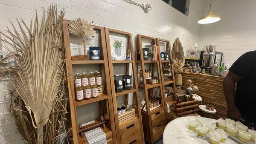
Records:
{"label": "two rows of amber bottles with white-and-orange labels on the left shelf", "polygon": [[83,75],[76,73],[74,77],[74,86],[76,101],[88,100],[90,98],[98,97],[98,87],[102,85],[102,75],[100,72],[95,71],[90,72],[90,75],[86,75],[83,72]]}

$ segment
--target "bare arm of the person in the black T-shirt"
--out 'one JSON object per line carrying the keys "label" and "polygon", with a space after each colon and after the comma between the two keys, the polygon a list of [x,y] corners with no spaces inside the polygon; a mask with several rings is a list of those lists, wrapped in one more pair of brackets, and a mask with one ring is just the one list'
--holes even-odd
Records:
{"label": "bare arm of the person in the black T-shirt", "polygon": [[241,80],[241,77],[229,71],[223,81],[224,95],[227,101],[227,115],[236,121],[241,119],[241,113],[235,105],[235,83]]}

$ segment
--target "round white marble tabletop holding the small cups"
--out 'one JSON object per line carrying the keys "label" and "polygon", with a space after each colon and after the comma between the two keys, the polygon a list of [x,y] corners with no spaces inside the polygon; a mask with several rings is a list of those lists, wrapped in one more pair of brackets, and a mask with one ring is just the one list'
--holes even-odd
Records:
{"label": "round white marble tabletop holding the small cups", "polygon": [[[189,119],[195,117],[181,117],[169,122],[163,132],[163,144],[209,144],[207,139],[198,137],[194,131],[189,130]],[[204,118],[206,121],[215,123],[217,120]],[[220,144],[224,144],[221,143]],[[227,138],[225,144],[238,144],[230,138]]]}

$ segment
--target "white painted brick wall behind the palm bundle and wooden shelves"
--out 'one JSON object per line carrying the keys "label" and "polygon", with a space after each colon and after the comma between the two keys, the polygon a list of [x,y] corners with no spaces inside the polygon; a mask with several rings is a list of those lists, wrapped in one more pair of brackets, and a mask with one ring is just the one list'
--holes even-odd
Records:
{"label": "white painted brick wall behind the palm bundle and wooden shelves", "polygon": [[[148,2],[148,0],[134,1]],[[133,41],[137,34],[168,39],[171,43],[176,37],[180,37],[184,49],[193,47],[194,43],[198,42],[200,25],[197,20],[201,17],[203,6],[203,0],[190,0],[189,17],[187,17],[162,0],[149,0],[153,10],[148,14],[145,14],[140,7],[123,0],[0,0],[0,31],[7,30],[10,21],[17,27],[16,17],[18,20],[22,17],[26,23],[29,23],[31,17],[35,17],[35,9],[40,18],[43,14],[42,8],[47,9],[49,3],[57,3],[59,9],[64,8],[66,19],[82,17],[89,21],[94,20],[94,24],[98,26],[131,32]],[[1,44],[4,45],[3,42]],[[0,66],[4,65],[0,64]],[[21,136],[15,132],[15,122],[8,109],[8,89],[8,80],[1,80],[0,143],[23,144]],[[78,119],[86,119],[83,111],[88,109],[83,107],[79,109]]]}

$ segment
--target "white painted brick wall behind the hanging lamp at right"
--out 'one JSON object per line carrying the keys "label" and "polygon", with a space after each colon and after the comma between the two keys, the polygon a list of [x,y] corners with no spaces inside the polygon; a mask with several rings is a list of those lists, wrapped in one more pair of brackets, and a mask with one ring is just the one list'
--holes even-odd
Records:
{"label": "white painted brick wall behind the hanging lamp at right", "polygon": [[[203,14],[209,11],[209,2],[204,0]],[[255,0],[212,0],[212,14],[218,14],[221,20],[202,25],[200,47],[217,45],[228,68],[245,52],[256,50],[255,6]]]}

